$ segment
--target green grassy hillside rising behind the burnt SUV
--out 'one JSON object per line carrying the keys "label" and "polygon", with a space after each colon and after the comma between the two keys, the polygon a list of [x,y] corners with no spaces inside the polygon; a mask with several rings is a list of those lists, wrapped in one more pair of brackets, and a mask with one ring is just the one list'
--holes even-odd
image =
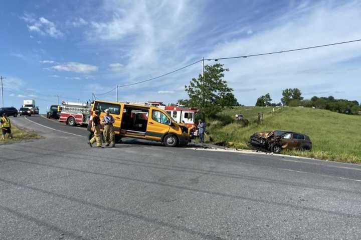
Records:
{"label": "green grassy hillside rising behind the burnt SUV", "polygon": [[[275,111],[273,111],[273,108]],[[263,122],[257,123],[258,112]],[[248,126],[235,122],[236,113],[249,120]],[[250,135],[273,129],[293,130],[308,135],[310,152],[286,151],[287,154],[361,163],[361,116],[302,107],[235,107],[218,119],[209,120],[208,130],[214,141],[234,142],[236,148],[248,148]]]}

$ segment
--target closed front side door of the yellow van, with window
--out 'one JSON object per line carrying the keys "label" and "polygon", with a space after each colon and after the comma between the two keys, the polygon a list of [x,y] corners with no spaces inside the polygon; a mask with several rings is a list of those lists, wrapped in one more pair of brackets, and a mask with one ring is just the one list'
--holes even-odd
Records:
{"label": "closed front side door of the yellow van, with window", "polygon": [[164,134],[169,132],[171,119],[159,109],[150,108],[149,111],[145,136],[149,139],[160,140]]}

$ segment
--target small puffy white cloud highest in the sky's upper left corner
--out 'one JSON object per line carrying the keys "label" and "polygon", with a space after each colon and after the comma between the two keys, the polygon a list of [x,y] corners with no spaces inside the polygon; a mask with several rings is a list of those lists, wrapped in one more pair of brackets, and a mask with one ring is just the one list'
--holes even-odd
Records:
{"label": "small puffy white cloud highest in the sky's upper left corner", "polygon": [[22,19],[29,23],[29,31],[35,31],[41,35],[48,35],[55,38],[64,36],[64,33],[57,28],[55,23],[45,17],[39,17],[36,19],[30,14],[25,14]]}

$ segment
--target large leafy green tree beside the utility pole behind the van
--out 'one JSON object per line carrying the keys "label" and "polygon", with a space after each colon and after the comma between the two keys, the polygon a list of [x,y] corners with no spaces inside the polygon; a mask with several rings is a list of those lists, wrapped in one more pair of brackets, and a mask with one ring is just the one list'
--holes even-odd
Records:
{"label": "large leafy green tree beside the utility pole behind the van", "polygon": [[206,65],[204,77],[199,74],[190,84],[185,86],[189,96],[188,105],[196,106],[207,116],[215,116],[226,106],[238,103],[233,89],[223,80],[224,72],[228,71],[223,64]]}

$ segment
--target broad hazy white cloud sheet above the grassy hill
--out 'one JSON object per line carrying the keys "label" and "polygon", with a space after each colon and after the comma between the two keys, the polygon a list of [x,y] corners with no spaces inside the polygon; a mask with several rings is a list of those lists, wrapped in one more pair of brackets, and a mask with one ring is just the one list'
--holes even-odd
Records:
{"label": "broad hazy white cloud sheet above the grassy hill", "polygon": [[[290,11],[280,17],[282,20],[265,23],[265,28],[257,29],[254,34],[217,44],[208,55],[246,55],[358,39],[361,35],[360,11],[359,1],[337,6],[322,2],[300,14]],[[230,69],[225,79],[235,89],[238,101],[251,105],[259,95],[267,92],[279,101],[282,89],[288,87],[298,87],[302,92],[335,92],[348,88],[352,92],[348,90],[349,95],[343,97],[357,97],[356,92],[360,89],[352,88],[352,85],[356,84],[361,69],[349,71],[346,69],[349,65],[344,62],[359,56],[361,44],[355,42],[218,62]],[[256,89],[237,90],[242,88]]]}

